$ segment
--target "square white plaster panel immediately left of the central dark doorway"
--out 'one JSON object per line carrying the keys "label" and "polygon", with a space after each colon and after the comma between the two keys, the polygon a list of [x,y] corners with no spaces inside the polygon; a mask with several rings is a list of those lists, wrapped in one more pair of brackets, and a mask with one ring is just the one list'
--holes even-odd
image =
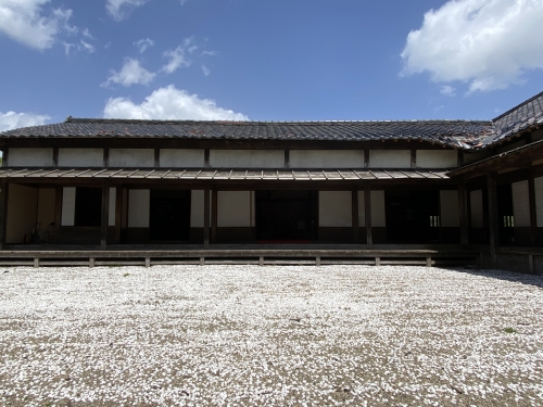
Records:
{"label": "square white plaster panel immediately left of the central dark doorway", "polygon": [[251,201],[250,191],[218,191],[217,226],[250,227]]}

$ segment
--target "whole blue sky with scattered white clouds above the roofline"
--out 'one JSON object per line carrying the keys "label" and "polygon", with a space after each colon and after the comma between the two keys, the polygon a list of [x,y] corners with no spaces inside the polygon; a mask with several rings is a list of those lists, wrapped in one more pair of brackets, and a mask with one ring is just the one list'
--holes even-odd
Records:
{"label": "whole blue sky with scattered white clouds above the roofline", "polygon": [[490,119],[543,0],[0,0],[0,130],[74,117]]}

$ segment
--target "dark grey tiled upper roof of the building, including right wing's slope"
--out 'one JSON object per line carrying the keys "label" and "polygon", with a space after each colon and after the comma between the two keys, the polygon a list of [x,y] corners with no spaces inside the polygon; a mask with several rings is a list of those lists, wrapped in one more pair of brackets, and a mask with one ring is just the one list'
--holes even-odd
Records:
{"label": "dark grey tiled upper roof of the building, including right wing's slope", "polygon": [[25,127],[2,138],[180,138],[228,140],[422,140],[459,149],[502,142],[543,125],[543,92],[493,120],[399,122],[194,122],[73,118]]}

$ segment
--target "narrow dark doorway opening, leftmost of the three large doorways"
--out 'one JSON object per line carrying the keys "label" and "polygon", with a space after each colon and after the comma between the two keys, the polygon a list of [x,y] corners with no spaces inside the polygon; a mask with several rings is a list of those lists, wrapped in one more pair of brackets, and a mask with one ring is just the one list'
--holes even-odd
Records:
{"label": "narrow dark doorway opening, leftmost of the three large doorways", "polygon": [[190,240],[190,191],[151,190],[150,240]]}

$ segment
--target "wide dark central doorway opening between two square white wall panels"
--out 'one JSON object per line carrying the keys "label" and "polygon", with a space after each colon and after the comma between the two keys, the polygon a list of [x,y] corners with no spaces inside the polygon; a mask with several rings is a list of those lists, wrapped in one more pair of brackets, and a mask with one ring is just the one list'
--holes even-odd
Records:
{"label": "wide dark central doorway opening between two square white wall panels", "polygon": [[256,239],[265,243],[317,240],[317,191],[256,191]]}

